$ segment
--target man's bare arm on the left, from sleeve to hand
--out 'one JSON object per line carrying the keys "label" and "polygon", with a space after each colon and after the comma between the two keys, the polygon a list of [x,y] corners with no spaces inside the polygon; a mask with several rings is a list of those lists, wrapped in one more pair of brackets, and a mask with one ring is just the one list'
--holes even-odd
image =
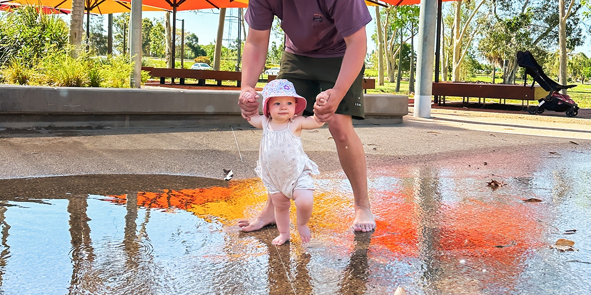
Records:
{"label": "man's bare arm on the left, from sleeve to hand", "polygon": [[251,116],[258,114],[259,103],[256,101],[259,94],[255,90],[258,77],[267,61],[267,48],[271,29],[258,31],[248,29],[248,37],[242,53],[242,89],[238,105],[242,110],[242,117],[250,120]]}

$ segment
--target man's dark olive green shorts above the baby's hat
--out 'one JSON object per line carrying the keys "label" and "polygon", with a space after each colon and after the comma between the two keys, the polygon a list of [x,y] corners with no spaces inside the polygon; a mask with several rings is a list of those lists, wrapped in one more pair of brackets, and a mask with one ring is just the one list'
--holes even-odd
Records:
{"label": "man's dark olive green shorts above the baby's hat", "polygon": [[[307,101],[304,115],[311,116],[314,114],[316,96],[321,91],[335,87],[342,62],[342,57],[306,57],[285,51],[281,58],[277,78],[287,79],[294,84],[297,94],[306,98]],[[346,114],[357,120],[365,119],[365,111],[363,110],[364,71],[365,65],[363,65],[359,76],[353,81],[343,100],[340,101],[336,114]]]}

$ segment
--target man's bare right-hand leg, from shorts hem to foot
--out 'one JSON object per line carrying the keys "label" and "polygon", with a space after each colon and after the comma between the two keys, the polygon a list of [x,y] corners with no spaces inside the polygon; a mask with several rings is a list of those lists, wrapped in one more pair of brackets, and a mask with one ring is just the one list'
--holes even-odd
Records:
{"label": "man's bare right-hand leg, from shorts hem to foot", "polygon": [[335,139],[340,165],[349,178],[355,198],[355,220],[353,230],[375,230],[374,214],[368,199],[368,175],[363,144],[355,129],[351,116],[334,114],[329,121],[329,131]]}

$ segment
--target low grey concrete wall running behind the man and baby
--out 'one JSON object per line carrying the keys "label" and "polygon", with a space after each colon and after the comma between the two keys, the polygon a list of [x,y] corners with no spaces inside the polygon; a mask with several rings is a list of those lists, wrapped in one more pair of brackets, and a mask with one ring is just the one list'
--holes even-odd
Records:
{"label": "low grey concrete wall running behind the man and baby", "polygon": [[[238,90],[109,89],[0,85],[8,129],[202,127],[245,124]],[[408,97],[365,94],[366,120],[402,123]]]}

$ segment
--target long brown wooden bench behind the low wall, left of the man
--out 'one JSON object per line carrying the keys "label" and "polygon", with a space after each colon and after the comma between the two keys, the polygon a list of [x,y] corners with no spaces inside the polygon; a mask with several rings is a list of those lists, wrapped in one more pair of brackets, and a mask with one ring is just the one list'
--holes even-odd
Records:
{"label": "long brown wooden bench behind the low wall, left of the man", "polygon": [[197,79],[197,85],[205,86],[205,80],[216,80],[217,86],[222,86],[222,80],[236,81],[236,87],[241,86],[242,73],[232,71],[213,71],[213,70],[191,70],[189,68],[153,68],[142,67],[142,71],[148,71],[152,77],[160,77],[160,84],[164,84],[166,78],[180,79],[180,84],[184,85],[186,78]]}

